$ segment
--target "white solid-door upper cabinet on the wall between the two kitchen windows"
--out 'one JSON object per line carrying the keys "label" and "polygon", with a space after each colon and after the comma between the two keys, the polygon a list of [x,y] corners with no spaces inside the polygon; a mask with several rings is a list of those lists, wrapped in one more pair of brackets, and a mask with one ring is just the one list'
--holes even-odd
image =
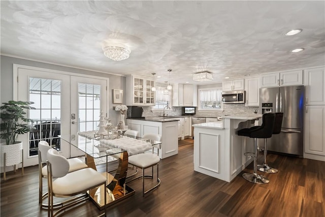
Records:
{"label": "white solid-door upper cabinet on the wall between the two kitchen windows", "polygon": [[194,84],[174,84],[173,106],[198,106],[198,86]]}

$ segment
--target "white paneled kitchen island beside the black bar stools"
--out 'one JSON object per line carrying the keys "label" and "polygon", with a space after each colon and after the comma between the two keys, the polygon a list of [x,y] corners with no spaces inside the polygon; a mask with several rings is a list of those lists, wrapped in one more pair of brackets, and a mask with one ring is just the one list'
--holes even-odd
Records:
{"label": "white paneled kitchen island beside the black bar stools", "polygon": [[254,126],[261,114],[223,116],[223,125],[199,123],[194,127],[194,170],[228,181],[233,180],[252,159],[253,139],[238,136],[237,131]]}

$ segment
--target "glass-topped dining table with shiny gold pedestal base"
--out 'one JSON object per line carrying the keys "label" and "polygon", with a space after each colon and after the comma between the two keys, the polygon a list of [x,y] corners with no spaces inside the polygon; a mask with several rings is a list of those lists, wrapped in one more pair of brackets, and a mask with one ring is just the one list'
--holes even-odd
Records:
{"label": "glass-topped dining table with shiny gold pedestal base", "polygon": [[[104,193],[107,194],[107,206],[135,194],[135,190],[128,187],[125,183],[129,154],[142,153],[144,150],[149,150],[149,148],[153,150],[153,147],[159,148],[161,145],[160,141],[144,138],[126,138],[126,136],[115,139],[100,139],[100,137],[94,138],[93,136],[91,138],[91,136],[84,135],[61,134],[59,137],[66,141],[66,144],[70,144],[84,152],[86,164],[94,170],[97,170],[95,159],[104,160],[106,158],[106,172],[102,173],[107,178],[106,187],[95,188],[88,193],[99,209],[103,209],[105,206]],[[147,148],[128,148],[127,144],[129,146],[141,144],[142,147],[147,145]],[[118,161],[117,170],[114,170],[116,171],[115,175],[112,175],[113,173],[111,174],[108,170],[108,161],[112,158]]]}

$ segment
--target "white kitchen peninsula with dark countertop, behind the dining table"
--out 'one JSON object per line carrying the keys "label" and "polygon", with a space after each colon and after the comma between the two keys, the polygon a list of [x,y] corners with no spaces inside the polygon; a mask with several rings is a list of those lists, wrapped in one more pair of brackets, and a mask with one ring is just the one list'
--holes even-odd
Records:
{"label": "white kitchen peninsula with dark countertop, behind the dining table", "polygon": [[[163,117],[126,118],[129,129],[144,134],[161,135],[160,159],[178,154],[178,119]],[[155,151],[157,151],[155,149]]]}

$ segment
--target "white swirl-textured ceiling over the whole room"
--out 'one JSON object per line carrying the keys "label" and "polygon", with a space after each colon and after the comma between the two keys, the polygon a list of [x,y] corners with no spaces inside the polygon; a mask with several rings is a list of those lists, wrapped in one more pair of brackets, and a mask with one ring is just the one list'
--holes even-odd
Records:
{"label": "white swirl-textured ceiling over the whole room", "polygon": [[[325,65],[324,1],[1,1],[1,53],[192,83]],[[284,34],[295,28],[296,36]],[[131,49],[104,56],[102,45]],[[303,52],[290,53],[295,48]],[[209,82],[197,82],[205,84]]]}

